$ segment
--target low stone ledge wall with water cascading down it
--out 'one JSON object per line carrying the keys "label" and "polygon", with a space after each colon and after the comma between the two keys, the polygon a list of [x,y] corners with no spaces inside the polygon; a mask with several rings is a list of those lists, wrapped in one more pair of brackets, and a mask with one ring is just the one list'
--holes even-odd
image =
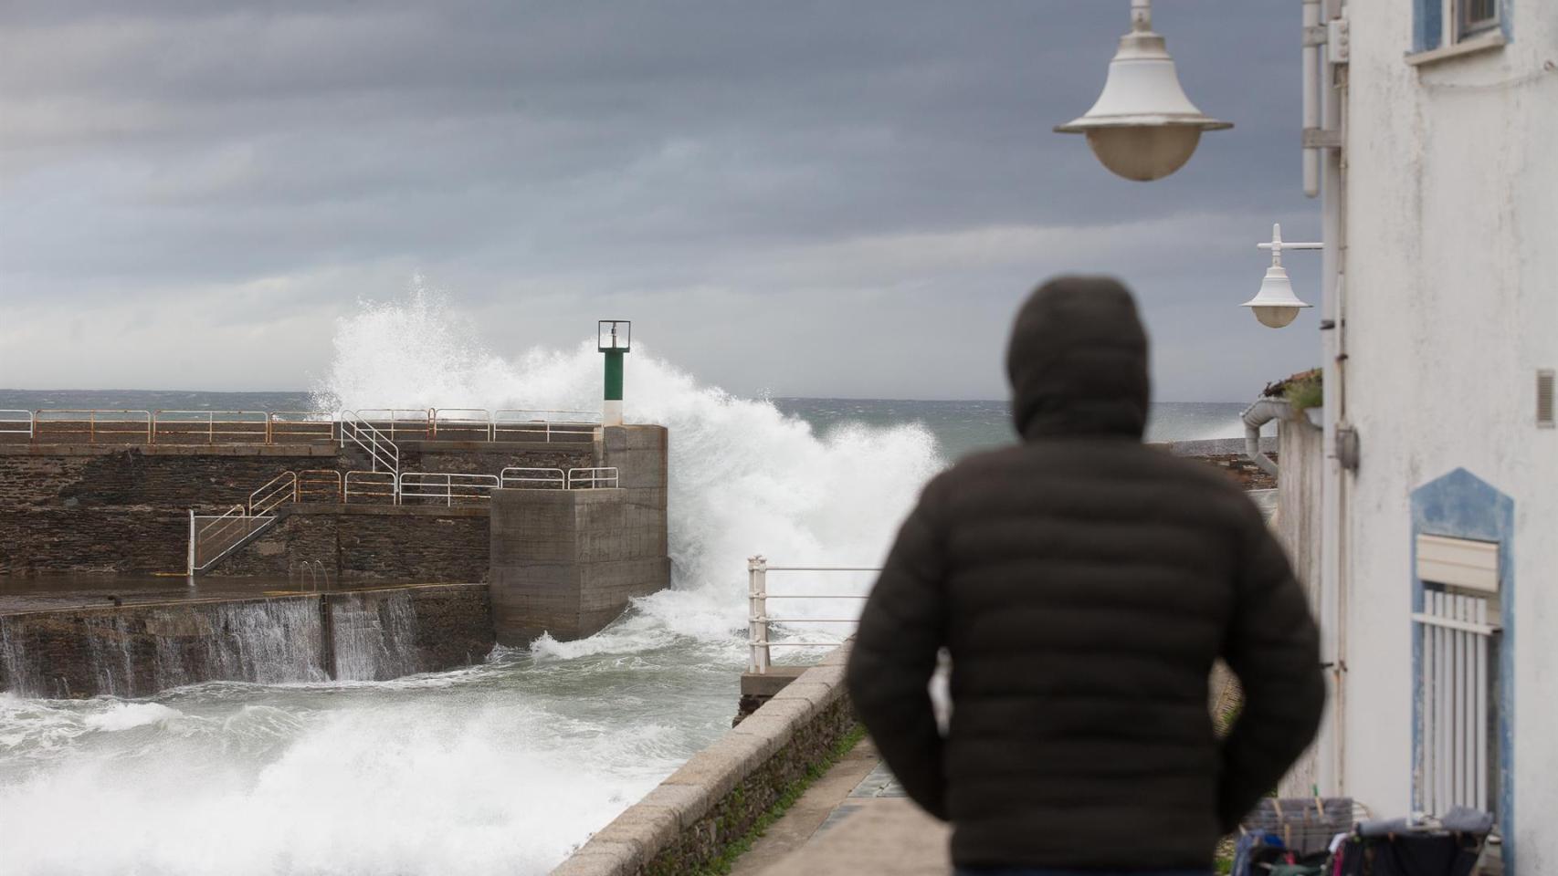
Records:
{"label": "low stone ledge wall with water cascading down it", "polygon": [[483,660],[486,587],[419,585],[0,615],[0,689],[142,697],[198,682],[375,680]]}

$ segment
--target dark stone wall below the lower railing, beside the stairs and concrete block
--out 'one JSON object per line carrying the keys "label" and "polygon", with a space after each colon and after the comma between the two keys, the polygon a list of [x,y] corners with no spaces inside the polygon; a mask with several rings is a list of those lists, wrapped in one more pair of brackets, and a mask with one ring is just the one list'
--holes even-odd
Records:
{"label": "dark stone wall below the lower railing, beside the stairs and concrete block", "polygon": [[209,574],[288,577],[307,562],[341,582],[483,582],[489,540],[486,507],[299,504]]}

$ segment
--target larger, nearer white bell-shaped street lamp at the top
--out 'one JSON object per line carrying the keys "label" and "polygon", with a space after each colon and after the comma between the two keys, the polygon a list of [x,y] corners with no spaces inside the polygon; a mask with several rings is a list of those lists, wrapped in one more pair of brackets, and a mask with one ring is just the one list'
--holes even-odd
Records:
{"label": "larger, nearer white bell-shaped street lamp at the top", "polygon": [[1109,76],[1092,109],[1059,124],[1086,134],[1092,154],[1125,179],[1162,179],[1184,166],[1203,131],[1232,128],[1201,114],[1179,87],[1164,37],[1153,33],[1151,0],[1131,0],[1131,33],[1109,61]]}

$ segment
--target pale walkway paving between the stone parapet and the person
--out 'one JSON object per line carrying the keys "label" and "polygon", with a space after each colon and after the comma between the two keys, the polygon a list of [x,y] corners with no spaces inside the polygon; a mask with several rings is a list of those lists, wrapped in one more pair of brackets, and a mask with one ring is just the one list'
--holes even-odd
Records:
{"label": "pale walkway paving between the stone parapet and the person", "polygon": [[862,741],[743,854],[732,876],[947,876],[950,828]]}

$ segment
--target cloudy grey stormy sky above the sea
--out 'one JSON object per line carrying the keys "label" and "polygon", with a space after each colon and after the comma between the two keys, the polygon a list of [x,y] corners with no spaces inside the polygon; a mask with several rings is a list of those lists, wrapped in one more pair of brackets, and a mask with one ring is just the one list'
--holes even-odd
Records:
{"label": "cloudy grey stormy sky above the sea", "polygon": [[999,398],[1025,293],[1106,271],[1159,400],[1245,400],[1318,364],[1237,307],[1318,233],[1298,19],[1159,0],[1235,128],[1133,184],[1050,131],[1126,0],[6,0],[0,387],[308,389],[421,275],[503,355],[625,317],[740,394]]}

